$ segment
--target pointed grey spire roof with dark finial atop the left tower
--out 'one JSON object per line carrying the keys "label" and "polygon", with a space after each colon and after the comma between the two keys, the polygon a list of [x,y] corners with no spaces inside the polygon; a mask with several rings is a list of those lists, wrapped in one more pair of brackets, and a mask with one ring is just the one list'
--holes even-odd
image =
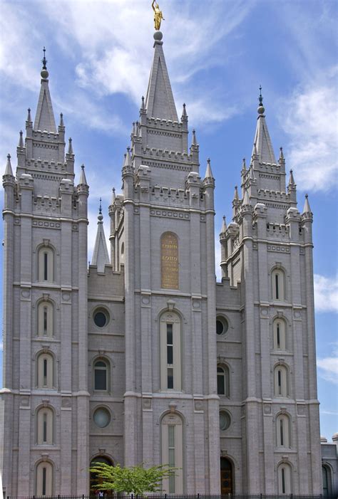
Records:
{"label": "pointed grey spire roof with dark finial atop the left tower", "polygon": [[47,132],[56,133],[56,125],[53,113],[53,106],[51,104],[51,94],[48,88],[48,71],[46,68],[46,49],[43,47],[43,59],[41,70],[41,89],[36,109],[34,130],[47,130]]}

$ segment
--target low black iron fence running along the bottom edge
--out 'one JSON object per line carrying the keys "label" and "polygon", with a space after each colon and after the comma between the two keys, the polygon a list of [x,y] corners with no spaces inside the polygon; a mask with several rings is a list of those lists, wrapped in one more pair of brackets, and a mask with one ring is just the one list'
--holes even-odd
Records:
{"label": "low black iron fence running along the bottom edge", "polygon": [[106,494],[104,495],[12,495],[7,499],[338,499],[334,495],[312,495],[312,494],[145,494],[124,495]]}

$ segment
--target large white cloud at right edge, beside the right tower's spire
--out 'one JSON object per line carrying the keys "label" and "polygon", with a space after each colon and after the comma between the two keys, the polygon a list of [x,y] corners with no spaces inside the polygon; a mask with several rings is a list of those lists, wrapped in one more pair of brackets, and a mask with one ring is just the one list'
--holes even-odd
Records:
{"label": "large white cloud at right edge, beside the right tower's spire", "polygon": [[337,75],[332,68],[325,83],[299,88],[285,102],[287,162],[304,190],[328,191],[338,184]]}

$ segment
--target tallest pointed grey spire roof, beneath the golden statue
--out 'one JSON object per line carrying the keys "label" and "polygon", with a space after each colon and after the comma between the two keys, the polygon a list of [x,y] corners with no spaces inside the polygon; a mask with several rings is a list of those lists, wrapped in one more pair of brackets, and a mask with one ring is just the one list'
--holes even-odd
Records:
{"label": "tallest pointed grey spire roof, beneath the golden statue", "polygon": [[148,117],[178,121],[173,91],[171,90],[167,65],[163,53],[162,33],[154,33],[154,58],[150,71],[145,107]]}

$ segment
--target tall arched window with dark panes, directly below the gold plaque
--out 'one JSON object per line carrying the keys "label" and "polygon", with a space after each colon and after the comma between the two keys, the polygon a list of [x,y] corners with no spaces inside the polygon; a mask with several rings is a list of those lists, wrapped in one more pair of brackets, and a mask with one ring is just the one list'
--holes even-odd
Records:
{"label": "tall arched window with dark panes, directly below the gold plaque", "polygon": [[181,322],[175,312],[160,317],[160,389],[182,389]]}

